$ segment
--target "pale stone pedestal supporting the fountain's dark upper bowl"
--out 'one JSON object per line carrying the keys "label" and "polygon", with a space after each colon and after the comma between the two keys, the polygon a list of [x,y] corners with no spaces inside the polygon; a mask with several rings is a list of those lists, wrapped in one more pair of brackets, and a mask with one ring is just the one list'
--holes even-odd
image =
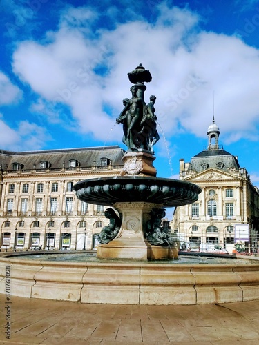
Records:
{"label": "pale stone pedestal supporting the fountain's dark upper bowl", "polygon": [[178,257],[177,246],[152,246],[145,239],[144,226],[150,217],[149,213],[154,207],[160,208],[161,204],[118,202],[113,207],[122,215],[122,226],[113,241],[108,244],[99,244],[97,257],[148,261]]}

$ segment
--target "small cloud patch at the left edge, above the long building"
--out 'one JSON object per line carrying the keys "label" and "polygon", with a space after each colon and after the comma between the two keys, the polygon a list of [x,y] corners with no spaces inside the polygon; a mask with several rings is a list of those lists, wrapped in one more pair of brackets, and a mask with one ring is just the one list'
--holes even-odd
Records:
{"label": "small cloud patch at the left edge, above the long building", "polygon": [[17,103],[21,99],[22,92],[10,79],[0,71],[0,105]]}

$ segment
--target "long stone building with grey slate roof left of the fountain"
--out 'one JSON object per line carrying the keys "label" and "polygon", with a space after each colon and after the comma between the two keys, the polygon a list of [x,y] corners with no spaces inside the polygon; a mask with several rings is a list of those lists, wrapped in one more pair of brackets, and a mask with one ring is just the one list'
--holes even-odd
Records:
{"label": "long stone building with grey slate roof left of the fountain", "polygon": [[75,197],[73,185],[119,175],[119,146],[0,152],[1,249],[91,249],[108,224],[104,206]]}

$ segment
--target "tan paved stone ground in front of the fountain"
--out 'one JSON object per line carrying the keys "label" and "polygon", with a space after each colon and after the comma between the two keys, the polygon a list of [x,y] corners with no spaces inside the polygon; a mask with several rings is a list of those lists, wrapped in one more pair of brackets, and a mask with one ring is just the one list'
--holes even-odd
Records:
{"label": "tan paved stone ground in front of the fountain", "polygon": [[259,300],[199,306],[79,304],[0,295],[0,344],[259,344]]}

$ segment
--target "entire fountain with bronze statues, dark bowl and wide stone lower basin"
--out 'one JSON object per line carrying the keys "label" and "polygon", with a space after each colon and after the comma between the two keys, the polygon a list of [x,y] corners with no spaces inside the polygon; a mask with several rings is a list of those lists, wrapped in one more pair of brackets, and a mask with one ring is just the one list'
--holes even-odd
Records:
{"label": "entire fountain with bronze statues, dark bowl and wide stone lower basin", "polygon": [[[117,119],[123,124],[123,142],[128,147],[120,176],[75,185],[79,199],[113,206],[106,210],[110,223],[99,234],[99,259],[90,261],[86,253],[79,253],[85,261],[73,261],[69,259],[73,252],[53,252],[55,260],[48,260],[51,253],[44,251],[0,253],[0,293],[6,293],[8,268],[12,295],[21,297],[108,304],[218,304],[258,299],[259,264],[230,259],[227,264],[200,265],[198,257],[185,264],[181,260],[144,262],[178,257],[177,238],[161,225],[164,207],[194,202],[200,188],[156,177],[155,97],[148,105],[144,102],[144,82],[151,81],[151,75],[138,66],[129,78],[133,95],[124,99]],[[24,254],[29,258],[22,259]]]}

